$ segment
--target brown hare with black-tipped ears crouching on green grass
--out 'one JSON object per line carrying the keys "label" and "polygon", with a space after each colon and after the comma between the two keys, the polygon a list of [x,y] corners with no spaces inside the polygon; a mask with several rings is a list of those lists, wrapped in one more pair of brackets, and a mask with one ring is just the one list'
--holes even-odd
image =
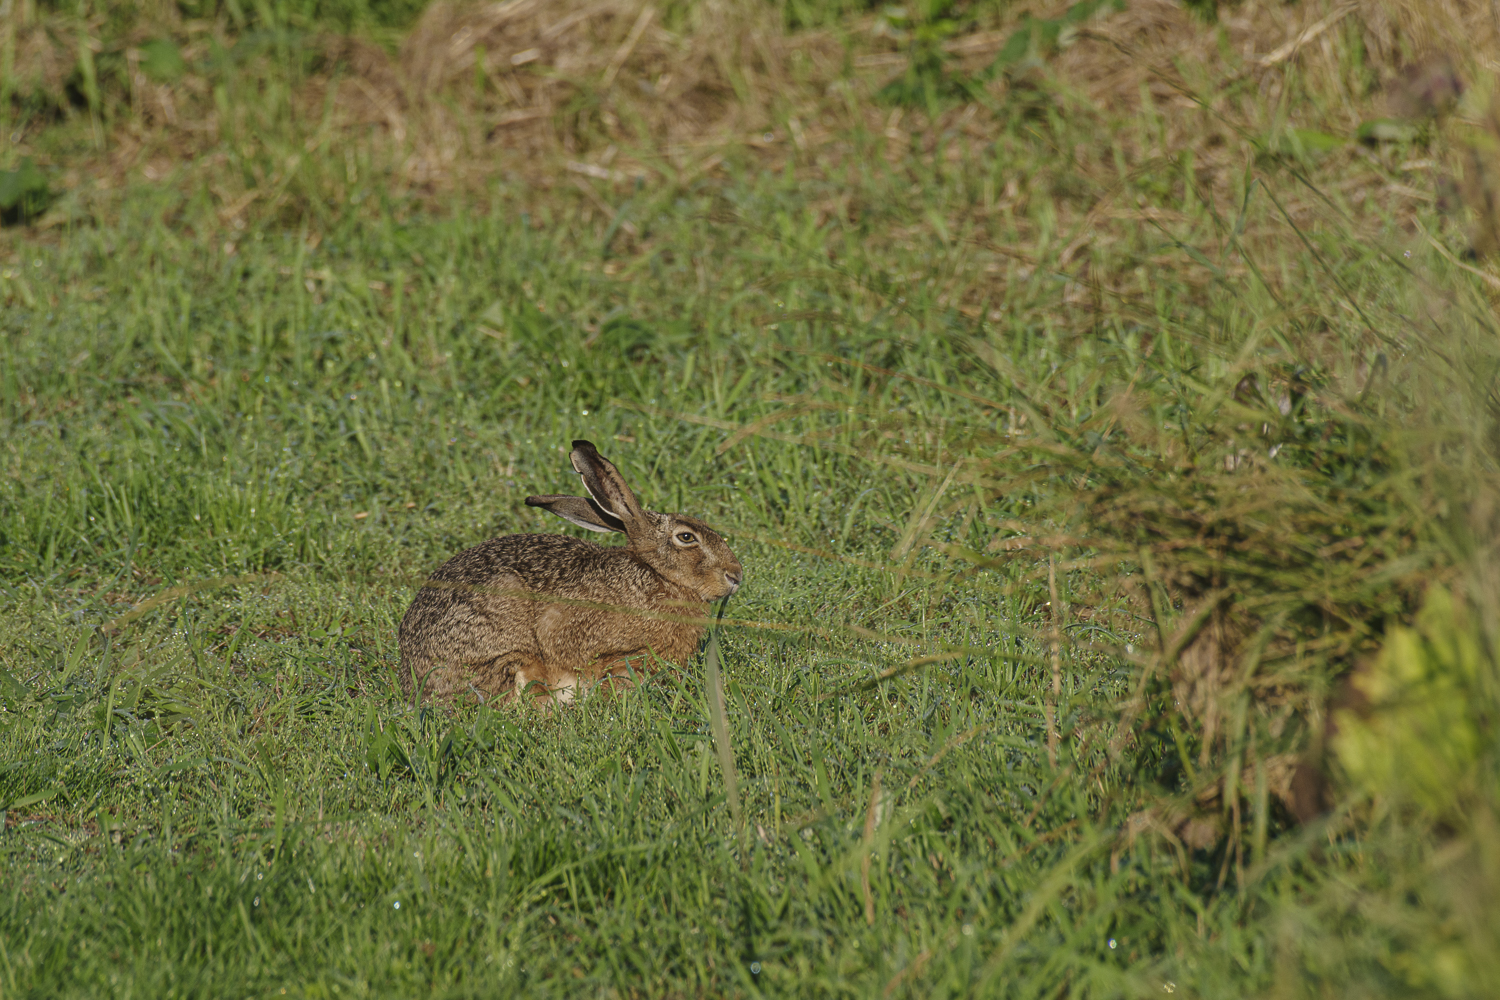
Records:
{"label": "brown hare with black-tipped ears crouching on green grass", "polygon": [[624,532],[626,544],[506,535],[444,562],[400,619],[408,697],[510,700],[531,687],[567,703],[579,685],[650,673],[654,657],[684,666],[710,601],[740,589],[740,561],[718,532],[644,510],[588,441],[574,441],[570,457],[588,496],[526,504],[590,531]]}

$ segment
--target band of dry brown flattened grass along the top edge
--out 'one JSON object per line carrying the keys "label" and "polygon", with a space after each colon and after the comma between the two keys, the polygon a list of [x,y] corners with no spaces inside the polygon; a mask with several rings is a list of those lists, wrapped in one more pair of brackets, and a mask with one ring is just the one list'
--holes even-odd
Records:
{"label": "band of dry brown flattened grass along the top edge", "polygon": [[[1048,3],[1035,13],[1056,16],[1066,6]],[[1059,150],[1058,172],[1092,189],[1092,196],[1058,198],[1059,210],[1068,228],[1088,231],[1120,216],[1138,222],[1134,205],[1112,198],[1116,150],[1106,145],[1120,147],[1134,171],[1191,156],[1203,196],[1222,201],[1256,142],[1275,142],[1278,129],[1348,135],[1384,114],[1402,69],[1432,51],[1454,54],[1455,72],[1488,88],[1492,52],[1500,51],[1492,4],[1479,1],[1246,0],[1224,7],[1218,24],[1204,24],[1172,0],[1132,0],[1066,39],[1050,64],[994,79],[987,105],[951,106],[932,120],[872,99],[906,67],[903,43],[879,30],[876,18],[837,33],[788,33],[768,4],[726,0],[694,4],[670,25],[663,16],[634,0],[440,0],[394,52],[354,37],[308,39],[314,58],[285,94],[274,57],[256,55],[240,67],[242,91],[230,105],[214,97],[206,72],[172,84],[148,79],[135,48],[171,34],[198,66],[216,40],[232,40],[222,24],[142,22],[120,42],[128,85],[110,108],[102,148],[48,139],[48,127],[57,126],[42,123],[8,156],[69,168],[63,186],[93,190],[168,175],[212,184],[220,216],[232,222],[272,205],[297,214],[312,201],[348,196],[348,171],[309,177],[306,157],[320,148],[358,150],[390,171],[387,183],[399,195],[482,192],[506,177],[538,192],[564,183],[570,196],[597,204],[608,202],[610,184],[690,183],[738,157],[765,169],[790,160],[808,177],[830,175],[854,154],[856,129],[878,136],[892,160],[914,150],[930,157],[942,147],[963,162],[1002,138],[1017,108],[1036,115],[1065,108],[1096,118],[1112,138]],[[951,39],[952,67],[987,64],[1018,24],[1012,10]],[[76,27],[4,28],[15,39],[18,91],[64,93],[76,64]],[[254,90],[260,93],[244,93]],[[1322,99],[1288,105],[1293,91]],[[76,108],[72,114],[84,117]],[[1154,127],[1142,129],[1143,121]],[[226,147],[244,159],[256,150],[270,159],[234,175],[224,169]],[[1377,157],[1338,156],[1350,198],[1376,196],[1400,211],[1425,196],[1420,184],[1392,187],[1392,165]],[[1422,169],[1431,168],[1416,172]],[[1454,174],[1473,187],[1478,169],[1455,163]],[[1054,198],[1059,187],[1046,178],[1017,184],[1000,196],[1012,217],[1024,214],[1029,198]],[[1473,190],[1464,193],[1474,201]],[[600,207],[608,214],[609,205]]]}

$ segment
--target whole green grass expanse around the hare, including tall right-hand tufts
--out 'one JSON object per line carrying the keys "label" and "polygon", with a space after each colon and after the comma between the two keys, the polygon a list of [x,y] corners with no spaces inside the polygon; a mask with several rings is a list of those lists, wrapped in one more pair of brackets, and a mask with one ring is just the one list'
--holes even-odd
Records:
{"label": "whole green grass expanse around the hare, including tall right-hand tufts", "polygon": [[[1490,786],[1281,787],[1431,580],[1484,607],[1482,285],[1306,193],[1353,153],[1221,205],[1059,108],[639,189],[627,247],[507,186],[12,244],[0,988],[1484,996]],[[718,741],[696,667],[399,697],[434,567],[572,531],[573,438],[746,565]]]}

